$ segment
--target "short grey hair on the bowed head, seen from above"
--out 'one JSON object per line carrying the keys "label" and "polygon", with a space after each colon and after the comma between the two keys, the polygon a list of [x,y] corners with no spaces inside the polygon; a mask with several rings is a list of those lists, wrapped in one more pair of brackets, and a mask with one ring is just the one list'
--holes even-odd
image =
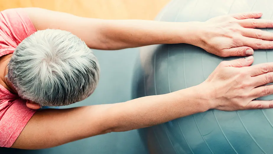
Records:
{"label": "short grey hair on the bowed head, seen from above", "polygon": [[7,78],[22,99],[62,106],[90,96],[99,73],[98,60],[84,41],[67,31],[46,29],[17,46]]}

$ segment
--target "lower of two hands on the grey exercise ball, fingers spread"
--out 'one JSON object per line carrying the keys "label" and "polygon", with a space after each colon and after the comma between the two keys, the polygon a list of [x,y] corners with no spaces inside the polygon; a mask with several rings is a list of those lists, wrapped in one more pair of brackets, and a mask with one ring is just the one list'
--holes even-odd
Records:
{"label": "lower of two hands on the grey exercise ball, fingers spread", "polygon": [[273,101],[254,100],[273,94],[273,62],[252,65],[253,56],[221,62],[198,86],[209,94],[210,109],[234,111],[273,108]]}

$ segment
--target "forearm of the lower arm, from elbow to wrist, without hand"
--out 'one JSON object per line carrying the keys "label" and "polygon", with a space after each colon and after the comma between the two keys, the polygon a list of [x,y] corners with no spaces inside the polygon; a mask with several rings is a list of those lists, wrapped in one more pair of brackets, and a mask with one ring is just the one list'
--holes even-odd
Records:
{"label": "forearm of the lower arm, from elbow to wrist, without hand", "polygon": [[[106,110],[112,131],[128,131],[165,123],[210,109],[208,95],[197,87],[147,96],[113,105]],[[105,114],[106,115],[106,114]]]}

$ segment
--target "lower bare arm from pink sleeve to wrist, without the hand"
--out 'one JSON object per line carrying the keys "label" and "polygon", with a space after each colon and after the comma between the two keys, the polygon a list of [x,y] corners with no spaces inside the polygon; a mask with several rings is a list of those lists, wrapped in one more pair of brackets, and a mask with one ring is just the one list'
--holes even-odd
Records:
{"label": "lower bare arm from pink sleeve to wrist, without the hand", "polygon": [[127,102],[35,113],[12,147],[41,149],[111,131],[129,131],[209,109],[194,87]]}

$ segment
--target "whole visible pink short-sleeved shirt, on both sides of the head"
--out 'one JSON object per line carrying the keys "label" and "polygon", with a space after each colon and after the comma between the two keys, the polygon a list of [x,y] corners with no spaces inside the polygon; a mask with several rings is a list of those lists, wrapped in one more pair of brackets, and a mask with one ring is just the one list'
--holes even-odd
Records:
{"label": "whole visible pink short-sleeved shirt, on both sides of the head", "polygon": [[[35,33],[35,27],[21,8],[0,12],[0,57]],[[11,147],[36,110],[0,84],[0,147]]]}

